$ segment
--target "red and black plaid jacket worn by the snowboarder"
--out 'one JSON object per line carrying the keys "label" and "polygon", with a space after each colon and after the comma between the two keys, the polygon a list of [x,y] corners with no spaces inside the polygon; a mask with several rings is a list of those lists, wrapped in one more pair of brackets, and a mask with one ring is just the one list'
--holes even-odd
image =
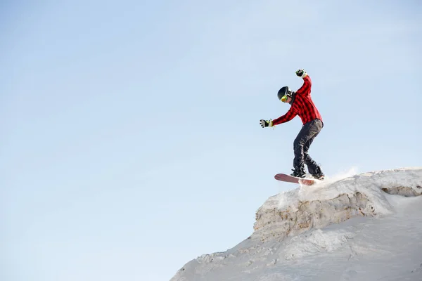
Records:
{"label": "red and black plaid jacket worn by the snowboarder", "polygon": [[311,77],[309,77],[309,75],[303,77],[303,85],[296,91],[295,100],[293,101],[290,110],[288,110],[285,115],[274,119],[274,125],[288,122],[296,115],[299,115],[304,125],[313,119],[320,119],[322,121],[322,117],[311,98],[311,86]]}

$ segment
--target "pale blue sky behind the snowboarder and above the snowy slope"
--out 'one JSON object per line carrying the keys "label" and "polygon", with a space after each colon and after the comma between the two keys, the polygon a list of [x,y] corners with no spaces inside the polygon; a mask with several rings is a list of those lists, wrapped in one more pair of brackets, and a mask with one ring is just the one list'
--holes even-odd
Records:
{"label": "pale blue sky behind the snowboarder and above the snowy slope", "polygon": [[252,233],[313,80],[327,176],[421,166],[420,1],[3,1],[0,280],[170,280]]}

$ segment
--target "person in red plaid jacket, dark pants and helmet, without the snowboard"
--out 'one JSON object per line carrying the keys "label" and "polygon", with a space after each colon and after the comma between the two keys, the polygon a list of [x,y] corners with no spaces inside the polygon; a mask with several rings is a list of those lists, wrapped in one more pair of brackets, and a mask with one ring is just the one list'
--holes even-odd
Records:
{"label": "person in red plaid jacket, dark pants and helmet, without the snowboard", "polygon": [[261,119],[260,124],[262,128],[272,127],[288,122],[296,115],[299,115],[300,119],[302,119],[303,126],[293,142],[295,157],[293,159],[293,174],[291,174],[291,176],[305,178],[306,164],[309,174],[314,178],[322,180],[324,179],[324,173],[321,171],[321,166],[316,164],[314,159],[309,156],[308,150],[309,146],[314,141],[314,138],[318,136],[324,126],[324,123],[311,98],[311,78],[307,72],[302,69],[297,70],[295,73],[298,77],[302,77],[303,79],[303,85],[300,89],[298,89],[298,91],[291,91],[288,86],[284,86],[279,90],[279,93],[277,93],[279,100],[283,103],[290,104],[288,112],[274,120]]}

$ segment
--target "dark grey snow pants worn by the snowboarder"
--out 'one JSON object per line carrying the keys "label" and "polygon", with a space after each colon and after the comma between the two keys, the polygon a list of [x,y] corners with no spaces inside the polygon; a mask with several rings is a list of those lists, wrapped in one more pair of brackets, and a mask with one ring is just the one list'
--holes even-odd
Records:
{"label": "dark grey snow pants worn by the snowboarder", "polygon": [[320,119],[313,119],[302,126],[302,129],[298,133],[298,136],[293,142],[293,151],[295,152],[295,159],[293,159],[293,166],[299,167],[302,164],[307,165],[309,174],[315,174],[315,169],[318,166],[314,159],[309,156],[309,146],[314,141],[314,138],[318,136],[324,124]]}

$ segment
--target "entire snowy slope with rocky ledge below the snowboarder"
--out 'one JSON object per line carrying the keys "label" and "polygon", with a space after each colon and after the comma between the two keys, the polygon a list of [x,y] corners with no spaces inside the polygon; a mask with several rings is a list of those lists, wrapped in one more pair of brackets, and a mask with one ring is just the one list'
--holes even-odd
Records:
{"label": "entire snowy slope with rocky ledge below the snowboarder", "polygon": [[359,174],[270,197],[254,233],[170,281],[422,280],[422,168]]}

